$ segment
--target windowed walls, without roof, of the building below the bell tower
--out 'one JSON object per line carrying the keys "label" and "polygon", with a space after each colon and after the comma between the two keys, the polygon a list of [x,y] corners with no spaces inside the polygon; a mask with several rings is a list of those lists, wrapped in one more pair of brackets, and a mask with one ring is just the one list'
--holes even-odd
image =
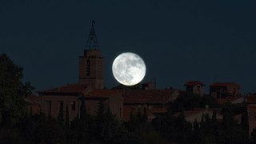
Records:
{"label": "windowed walls, without roof, of the building below the bell tower", "polygon": [[[123,98],[120,94],[115,94],[110,97],[104,97],[103,102],[105,109],[110,107],[110,111],[112,114],[116,114],[118,118],[122,119],[123,117]],[[86,112],[91,115],[97,114],[98,110],[98,102],[100,101],[100,97],[94,96],[86,96]],[[78,96],[72,95],[43,95],[42,96],[42,111],[48,115],[50,114],[53,118],[57,118],[60,109],[60,102],[63,103],[64,115],[66,114],[66,106],[68,106],[70,120],[74,119],[77,115],[79,116],[81,101]],[[75,104],[74,104],[75,103]],[[73,105],[75,106],[73,106]]]}

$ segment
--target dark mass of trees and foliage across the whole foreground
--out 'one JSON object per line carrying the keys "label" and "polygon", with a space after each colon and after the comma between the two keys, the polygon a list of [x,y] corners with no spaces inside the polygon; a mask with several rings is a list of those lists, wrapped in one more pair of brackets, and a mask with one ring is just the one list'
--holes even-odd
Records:
{"label": "dark mass of trees and foliage across the whole foreground", "polygon": [[[183,110],[194,107],[217,107],[210,96],[182,95],[168,103],[166,114],[155,115],[149,122],[148,110],[139,108],[130,113],[130,120],[122,122],[104,98],[98,102],[96,115],[87,114],[85,98],[81,96],[80,114],[70,122],[69,108],[63,106],[58,118],[43,113],[27,112],[27,96],[32,87],[22,83],[22,68],[14,65],[5,54],[0,56],[0,142],[1,143],[255,143],[256,129],[249,134],[246,103],[226,103],[222,108],[222,121],[214,111],[212,117],[202,114],[201,121],[193,125],[186,122]],[[31,108],[31,106],[30,106]],[[178,113],[177,113],[178,112]],[[242,114],[241,123],[234,115]],[[64,126],[65,121],[65,126]],[[248,137],[250,135],[250,137]],[[250,140],[250,141],[249,141]]]}

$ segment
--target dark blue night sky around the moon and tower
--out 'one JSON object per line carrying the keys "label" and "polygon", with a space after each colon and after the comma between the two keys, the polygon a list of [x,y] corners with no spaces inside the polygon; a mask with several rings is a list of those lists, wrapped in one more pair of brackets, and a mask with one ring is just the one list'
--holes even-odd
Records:
{"label": "dark blue night sky around the moon and tower", "polygon": [[105,58],[105,86],[122,52],[146,63],[143,82],[184,89],[190,80],[256,86],[255,0],[0,0],[0,54],[35,90],[78,82],[91,21]]}

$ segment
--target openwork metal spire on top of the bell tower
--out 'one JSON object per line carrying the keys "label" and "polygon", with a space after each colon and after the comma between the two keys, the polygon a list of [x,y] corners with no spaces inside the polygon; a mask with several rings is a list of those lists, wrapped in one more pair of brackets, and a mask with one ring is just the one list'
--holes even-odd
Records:
{"label": "openwork metal spire on top of the bell tower", "polygon": [[94,25],[95,25],[95,22],[94,22],[94,20],[92,20],[89,38],[87,39],[87,42],[86,42],[87,49],[98,49],[98,40],[96,38]]}

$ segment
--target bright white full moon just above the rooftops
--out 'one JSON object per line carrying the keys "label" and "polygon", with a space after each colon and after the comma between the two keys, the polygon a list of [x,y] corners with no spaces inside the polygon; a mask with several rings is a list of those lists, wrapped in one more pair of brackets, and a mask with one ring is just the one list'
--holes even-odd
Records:
{"label": "bright white full moon just above the rooftops", "polygon": [[144,78],[146,66],[138,54],[127,52],[114,59],[112,72],[118,82],[126,86],[133,86]]}

